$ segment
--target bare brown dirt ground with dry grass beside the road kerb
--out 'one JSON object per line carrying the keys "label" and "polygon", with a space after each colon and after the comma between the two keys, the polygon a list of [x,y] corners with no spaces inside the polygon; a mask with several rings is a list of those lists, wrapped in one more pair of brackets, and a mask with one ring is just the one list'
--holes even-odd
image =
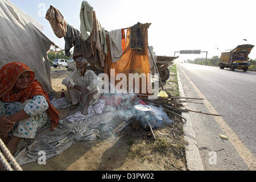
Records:
{"label": "bare brown dirt ground with dry grass beside the road kerb", "polygon": [[[70,71],[69,71],[70,72]],[[52,71],[52,87],[55,98],[60,98],[63,78],[69,75],[63,70]],[[172,73],[171,73],[172,75]],[[174,77],[165,88],[172,89]],[[173,90],[177,92],[177,90]],[[68,110],[59,110],[60,118]],[[25,171],[165,171],[186,170],[182,124],[178,119],[154,129],[156,140],[148,130],[133,130],[130,126],[118,133],[125,124],[119,117],[100,127],[101,138],[90,142],[75,140],[62,154],[46,161],[46,165],[30,163],[21,166]]]}

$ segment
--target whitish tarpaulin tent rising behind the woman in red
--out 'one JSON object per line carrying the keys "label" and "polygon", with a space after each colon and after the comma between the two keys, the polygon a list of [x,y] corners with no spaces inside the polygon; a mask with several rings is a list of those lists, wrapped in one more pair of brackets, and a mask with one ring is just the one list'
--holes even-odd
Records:
{"label": "whitish tarpaulin tent rising behind the woman in red", "polygon": [[0,1],[0,68],[14,61],[28,65],[48,94],[54,92],[43,27],[8,0]]}

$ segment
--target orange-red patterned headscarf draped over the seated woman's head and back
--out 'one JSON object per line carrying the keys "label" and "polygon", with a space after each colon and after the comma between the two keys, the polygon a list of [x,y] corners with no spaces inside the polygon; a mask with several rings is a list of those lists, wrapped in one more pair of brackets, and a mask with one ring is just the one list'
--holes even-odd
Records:
{"label": "orange-red patterned headscarf draped over the seated woman's head and back", "polygon": [[[31,83],[26,89],[13,93],[12,89],[19,76],[24,72],[30,72]],[[47,114],[51,118],[52,129],[57,127],[59,122],[59,112],[52,106],[49,96],[44,91],[43,86],[34,80],[35,73],[27,65],[19,62],[8,63],[0,69],[0,101],[2,102],[20,102],[33,98],[36,95],[44,96],[48,102],[49,108]]]}

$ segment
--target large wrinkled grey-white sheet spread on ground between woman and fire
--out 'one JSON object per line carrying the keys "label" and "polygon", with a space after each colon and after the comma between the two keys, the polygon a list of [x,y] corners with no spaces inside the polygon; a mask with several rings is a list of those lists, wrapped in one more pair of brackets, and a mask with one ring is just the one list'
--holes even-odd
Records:
{"label": "large wrinkled grey-white sheet spread on ground between woman and fire", "polygon": [[[81,111],[81,108],[73,111],[69,115]],[[63,151],[72,146],[74,139],[79,141],[95,140],[100,137],[99,127],[107,124],[117,117],[114,107],[104,106],[102,114],[93,115],[79,122],[69,122],[67,117],[59,121],[55,131],[51,131],[51,125],[40,129],[34,140],[21,140],[15,155],[19,165],[37,162],[42,156],[40,151],[46,152],[46,160],[60,155]],[[107,124],[108,125],[108,124]]]}

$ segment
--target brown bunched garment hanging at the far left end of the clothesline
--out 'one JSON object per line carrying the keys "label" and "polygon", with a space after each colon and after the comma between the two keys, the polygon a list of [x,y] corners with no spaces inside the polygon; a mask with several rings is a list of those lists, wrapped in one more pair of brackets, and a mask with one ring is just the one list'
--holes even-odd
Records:
{"label": "brown bunched garment hanging at the far left end of the clothesline", "polygon": [[51,24],[52,30],[57,38],[63,38],[66,35],[68,23],[59,10],[50,6],[46,13],[46,19]]}

